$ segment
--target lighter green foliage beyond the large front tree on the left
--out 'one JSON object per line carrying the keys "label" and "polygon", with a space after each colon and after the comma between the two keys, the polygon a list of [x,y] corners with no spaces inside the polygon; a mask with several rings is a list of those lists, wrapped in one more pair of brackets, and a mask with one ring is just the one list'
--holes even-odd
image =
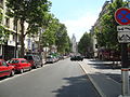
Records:
{"label": "lighter green foliage beyond the large front tree on the left", "polygon": [[52,18],[49,27],[42,34],[43,46],[56,45],[58,53],[70,52],[70,40],[64,24],[61,24],[57,18]]}

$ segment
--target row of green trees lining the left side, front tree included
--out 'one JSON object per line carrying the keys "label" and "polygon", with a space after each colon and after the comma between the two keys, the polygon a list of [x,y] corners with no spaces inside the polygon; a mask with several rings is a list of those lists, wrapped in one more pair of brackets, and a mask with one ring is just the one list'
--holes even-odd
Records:
{"label": "row of green trees lining the left side, front tree included", "polygon": [[[40,34],[40,45],[56,45],[60,53],[70,52],[70,40],[64,24],[61,24],[50,13],[52,2],[49,0],[6,0],[6,15],[21,24],[21,57],[24,56],[24,40],[26,36],[36,37]],[[25,22],[28,24],[25,32]],[[44,31],[39,33],[39,29]],[[5,34],[0,32],[0,37]]]}

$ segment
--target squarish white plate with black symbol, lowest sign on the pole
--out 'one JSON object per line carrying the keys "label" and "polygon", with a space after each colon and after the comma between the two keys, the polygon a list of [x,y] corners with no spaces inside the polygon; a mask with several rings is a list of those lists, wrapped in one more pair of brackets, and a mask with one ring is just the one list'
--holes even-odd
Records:
{"label": "squarish white plate with black symbol, lowest sign on the pole", "polygon": [[119,43],[129,43],[130,42],[130,32],[119,31],[118,32],[118,42]]}

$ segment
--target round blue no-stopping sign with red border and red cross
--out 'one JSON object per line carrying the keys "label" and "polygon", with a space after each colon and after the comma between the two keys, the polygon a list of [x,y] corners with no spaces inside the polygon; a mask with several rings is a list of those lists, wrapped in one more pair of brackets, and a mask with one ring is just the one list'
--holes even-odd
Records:
{"label": "round blue no-stopping sign with red border and red cross", "polygon": [[115,19],[120,25],[130,24],[130,10],[126,8],[120,8],[115,12]]}

